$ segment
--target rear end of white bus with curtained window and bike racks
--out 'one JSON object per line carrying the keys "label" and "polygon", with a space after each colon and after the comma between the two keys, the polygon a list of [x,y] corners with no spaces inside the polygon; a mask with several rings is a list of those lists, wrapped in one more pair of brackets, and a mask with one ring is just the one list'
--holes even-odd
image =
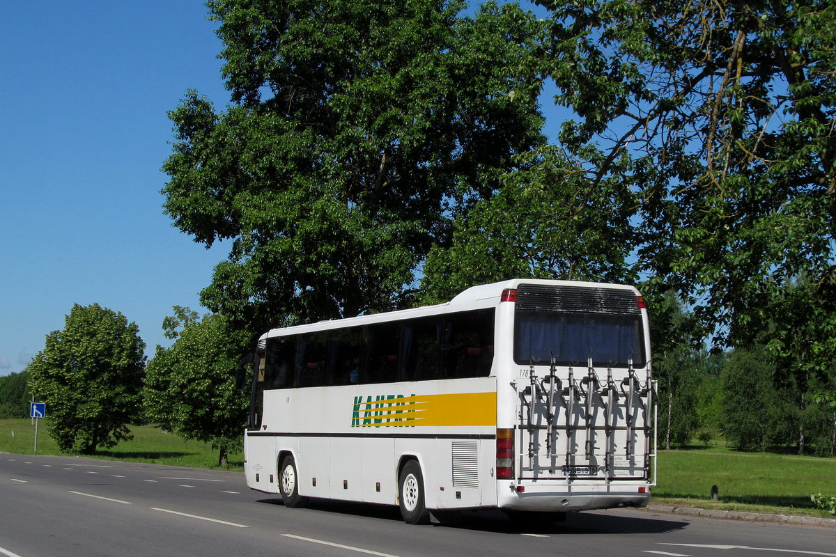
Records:
{"label": "rear end of white bus with curtained window and bike racks", "polygon": [[[497,506],[644,507],[655,478],[647,311],[630,286],[517,281],[497,337]],[[506,375],[507,374],[507,375]]]}

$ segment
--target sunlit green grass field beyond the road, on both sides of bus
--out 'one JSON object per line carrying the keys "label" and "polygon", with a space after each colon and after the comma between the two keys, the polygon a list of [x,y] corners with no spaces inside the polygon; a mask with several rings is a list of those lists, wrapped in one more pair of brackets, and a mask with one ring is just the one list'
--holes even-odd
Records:
{"label": "sunlit green grass field beyond the road, on both sides of bus", "polygon": [[[132,441],[99,450],[95,457],[217,467],[217,451],[207,443],[186,441],[152,426],[131,432]],[[33,445],[34,428],[28,419],[0,419],[0,453],[32,454]],[[38,425],[38,454],[59,454],[44,420]],[[231,453],[228,468],[243,469],[243,455]],[[814,509],[810,495],[836,495],[836,458],[740,453],[723,446],[678,449],[659,452],[658,475],[653,500],[659,504],[833,518]],[[715,484],[718,501],[711,500]]]}

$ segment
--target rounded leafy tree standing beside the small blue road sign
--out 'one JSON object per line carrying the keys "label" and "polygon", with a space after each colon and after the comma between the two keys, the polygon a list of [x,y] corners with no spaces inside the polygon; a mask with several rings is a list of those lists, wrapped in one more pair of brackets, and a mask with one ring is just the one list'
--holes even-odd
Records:
{"label": "rounded leafy tree standing beside the small blue road sign", "polygon": [[75,304],[64,330],[47,335],[27,370],[62,452],[92,454],[131,438],[128,425],[140,412],[144,350],[139,327],[99,304]]}

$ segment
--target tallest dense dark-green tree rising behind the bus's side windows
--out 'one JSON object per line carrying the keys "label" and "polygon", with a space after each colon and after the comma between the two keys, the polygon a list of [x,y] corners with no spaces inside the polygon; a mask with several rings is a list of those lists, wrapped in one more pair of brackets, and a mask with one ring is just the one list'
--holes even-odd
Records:
{"label": "tallest dense dark-green tree rising behind the bus's side windows", "polygon": [[201,301],[234,327],[410,303],[451,213],[500,187],[541,144],[514,5],[458,0],[215,0],[232,104],[171,112],[166,212],[231,240]]}

